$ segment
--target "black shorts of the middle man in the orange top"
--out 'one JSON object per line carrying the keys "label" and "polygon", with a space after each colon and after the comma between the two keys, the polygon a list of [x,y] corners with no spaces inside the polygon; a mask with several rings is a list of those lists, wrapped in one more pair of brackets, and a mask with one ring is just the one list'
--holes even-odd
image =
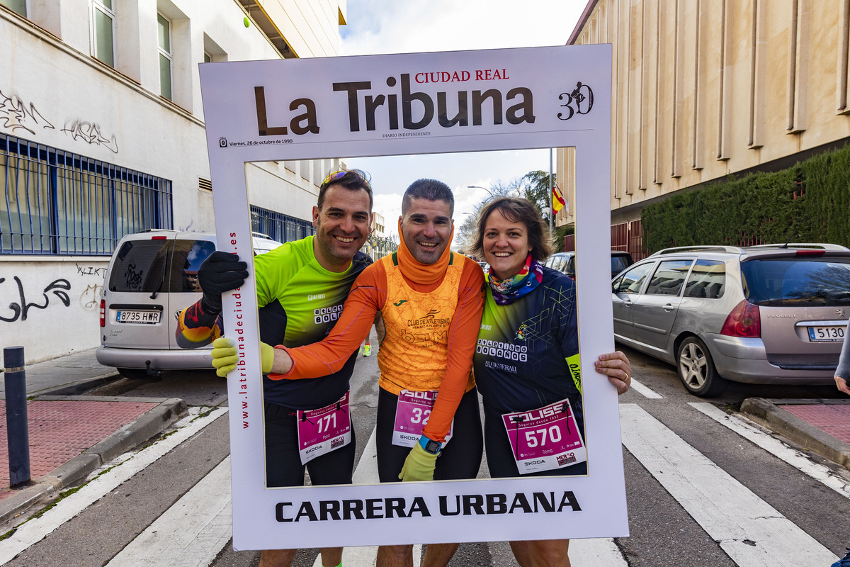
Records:
{"label": "black shorts of the middle man in the orange top", "polygon": [[[377,448],[377,473],[381,482],[399,482],[401,467],[410,454],[411,447],[393,445],[395,406],[399,396],[378,388],[377,425],[375,443]],[[455,412],[455,424],[451,439],[440,452],[434,469],[434,480],[474,479],[481,467],[484,441],[481,438],[481,416],[479,414],[478,389],[463,394]]]}

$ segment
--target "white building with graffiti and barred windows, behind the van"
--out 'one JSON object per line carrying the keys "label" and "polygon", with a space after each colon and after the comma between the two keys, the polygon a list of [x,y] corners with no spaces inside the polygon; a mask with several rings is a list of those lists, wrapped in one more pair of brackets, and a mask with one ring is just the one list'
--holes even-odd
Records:
{"label": "white building with graffiti and barred windows, behind the van", "polygon": [[[0,0],[0,347],[99,344],[122,235],[214,230],[198,65],[338,54],[345,0]],[[252,218],[313,234],[338,160],[251,166]]]}

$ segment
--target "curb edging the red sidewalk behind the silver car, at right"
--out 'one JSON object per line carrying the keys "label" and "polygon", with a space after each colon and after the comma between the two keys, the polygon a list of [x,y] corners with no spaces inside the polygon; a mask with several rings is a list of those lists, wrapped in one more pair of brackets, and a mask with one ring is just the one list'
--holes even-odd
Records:
{"label": "curb edging the red sidewalk behind the silver car, at right", "polygon": [[[795,403],[805,403],[805,400],[795,400]],[[779,408],[773,401],[747,398],[741,404],[740,411],[752,421],[774,430],[786,439],[791,439],[797,445],[802,445],[844,468],[850,468],[850,445]]]}

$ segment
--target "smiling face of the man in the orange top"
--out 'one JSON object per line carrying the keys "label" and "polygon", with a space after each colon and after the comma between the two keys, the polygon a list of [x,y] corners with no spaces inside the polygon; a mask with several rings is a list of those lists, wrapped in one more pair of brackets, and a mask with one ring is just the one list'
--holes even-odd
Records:
{"label": "smiling face of the man in the orange top", "polygon": [[411,199],[401,217],[401,236],[413,258],[422,264],[435,264],[450,244],[452,222],[449,202]]}

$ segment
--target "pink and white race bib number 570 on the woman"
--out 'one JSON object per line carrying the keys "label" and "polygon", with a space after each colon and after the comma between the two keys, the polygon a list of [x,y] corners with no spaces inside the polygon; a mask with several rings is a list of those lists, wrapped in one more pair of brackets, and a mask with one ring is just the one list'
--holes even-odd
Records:
{"label": "pink and white race bib number 570 on the woman", "polygon": [[520,474],[587,461],[570,400],[532,411],[502,414]]}

